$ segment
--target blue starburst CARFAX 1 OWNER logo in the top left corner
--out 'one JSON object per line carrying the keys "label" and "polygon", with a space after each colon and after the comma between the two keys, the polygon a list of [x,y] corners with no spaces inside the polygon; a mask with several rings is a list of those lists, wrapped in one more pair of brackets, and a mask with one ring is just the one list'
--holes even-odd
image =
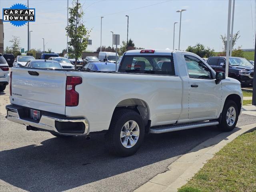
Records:
{"label": "blue starburst CARFAX 1 OWNER logo in the top left corner", "polygon": [[27,8],[24,4],[14,4],[10,8],[3,8],[3,21],[14,26],[23,26],[26,22],[35,21],[35,9]]}

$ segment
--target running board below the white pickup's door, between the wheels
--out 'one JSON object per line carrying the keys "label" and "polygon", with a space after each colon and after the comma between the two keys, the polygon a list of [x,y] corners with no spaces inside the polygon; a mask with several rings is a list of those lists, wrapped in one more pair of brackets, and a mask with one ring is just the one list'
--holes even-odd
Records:
{"label": "running board below the white pickup's door, between the wheels", "polygon": [[149,132],[158,134],[158,133],[193,129],[198,127],[212,126],[212,125],[218,125],[218,124],[219,122],[214,120],[214,121],[203,121],[203,122],[188,123],[188,124],[170,125],[170,126],[157,126],[157,127],[151,127]]}

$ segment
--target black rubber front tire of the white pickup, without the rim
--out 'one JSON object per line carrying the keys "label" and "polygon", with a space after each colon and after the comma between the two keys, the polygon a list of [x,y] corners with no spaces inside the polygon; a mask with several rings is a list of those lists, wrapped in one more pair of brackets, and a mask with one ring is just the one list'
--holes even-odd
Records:
{"label": "black rubber front tire of the white pickup, without the rim", "polygon": [[[232,126],[228,125],[227,120],[226,120],[227,112],[230,107],[234,107],[234,109],[236,111],[236,118],[235,118],[234,124]],[[232,131],[236,127],[236,123],[237,123],[238,116],[239,116],[236,103],[232,100],[226,100],[223,110],[222,110],[222,113],[221,113],[221,116],[222,117],[221,117],[220,124],[218,124],[218,128],[224,132]]]}

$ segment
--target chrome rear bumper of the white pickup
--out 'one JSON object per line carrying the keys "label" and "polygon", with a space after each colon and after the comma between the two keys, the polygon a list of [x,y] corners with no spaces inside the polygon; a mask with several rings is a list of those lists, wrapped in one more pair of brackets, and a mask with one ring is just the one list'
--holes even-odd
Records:
{"label": "chrome rear bumper of the white pickup", "polygon": [[[14,106],[14,105],[7,105],[7,116],[6,118],[12,122],[23,124],[26,126],[32,126],[44,131],[49,132],[56,132],[61,135],[88,135],[88,122],[84,118],[68,118],[65,116],[58,116],[56,114],[51,115],[50,113],[42,114],[39,122],[34,121],[31,118],[22,117],[21,110],[24,108],[22,106]],[[81,131],[72,130],[72,126],[69,130],[61,130],[65,124],[68,124],[66,126],[67,128],[72,125],[76,125],[75,123],[78,123],[80,126],[82,126]]]}

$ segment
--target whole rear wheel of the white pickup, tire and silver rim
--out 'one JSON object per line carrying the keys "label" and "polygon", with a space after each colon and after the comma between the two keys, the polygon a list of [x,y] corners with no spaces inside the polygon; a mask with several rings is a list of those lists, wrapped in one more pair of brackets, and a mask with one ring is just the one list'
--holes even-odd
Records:
{"label": "whole rear wheel of the white pickup, tire and silver rim", "polygon": [[106,146],[110,153],[118,156],[130,156],[140,148],[144,139],[144,123],[133,110],[114,112],[108,133]]}

